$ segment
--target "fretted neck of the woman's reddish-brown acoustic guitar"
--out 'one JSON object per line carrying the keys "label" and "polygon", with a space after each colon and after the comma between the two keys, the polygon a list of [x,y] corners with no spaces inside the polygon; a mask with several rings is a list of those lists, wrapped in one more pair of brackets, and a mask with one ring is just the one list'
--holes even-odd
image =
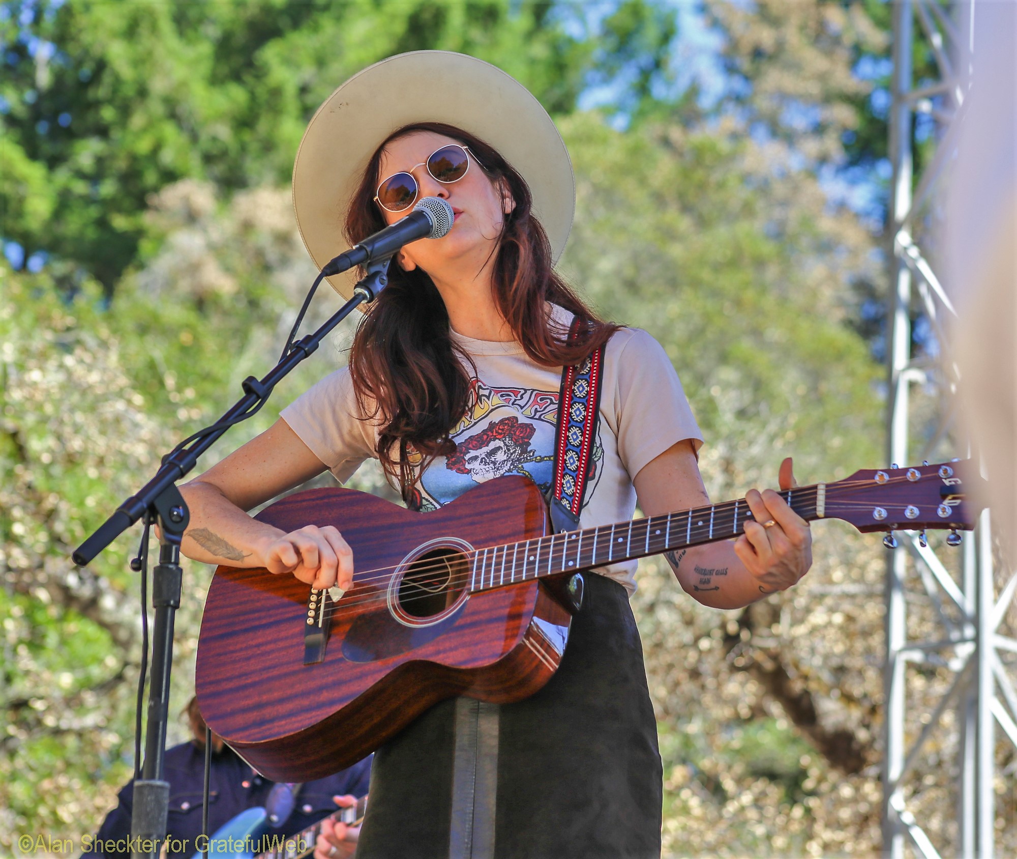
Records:
{"label": "fretted neck of the woman's reddish-brown acoustic guitar", "polygon": [[[816,483],[784,490],[779,495],[795,513],[809,521],[824,518],[826,489],[826,483]],[[529,579],[578,573],[647,555],[730,539],[744,530],[745,522],[753,520],[749,504],[739,499],[478,549],[474,553],[470,590],[490,590]]]}

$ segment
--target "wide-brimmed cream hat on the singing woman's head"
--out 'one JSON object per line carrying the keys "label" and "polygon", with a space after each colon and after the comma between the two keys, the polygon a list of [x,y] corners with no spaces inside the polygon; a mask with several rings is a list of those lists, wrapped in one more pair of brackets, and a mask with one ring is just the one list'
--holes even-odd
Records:
{"label": "wide-brimmed cream hat on the singing woman's head", "polygon": [[[353,75],[317,109],[293,165],[293,208],[314,265],[349,249],[347,209],[381,141],[412,122],[444,122],[496,149],[526,180],[533,212],[554,259],[576,211],[576,182],[564,141],[547,111],[496,66],[452,51],[413,51]],[[354,273],[328,278],[344,297]]]}

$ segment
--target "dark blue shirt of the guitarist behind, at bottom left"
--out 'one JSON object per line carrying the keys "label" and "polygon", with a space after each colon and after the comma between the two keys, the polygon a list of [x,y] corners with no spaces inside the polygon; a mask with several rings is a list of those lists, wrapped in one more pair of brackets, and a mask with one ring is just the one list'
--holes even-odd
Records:
{"label": "dark blue shirt of the guitarist behind, at bottom left", "polygon": [[[362,797],[367,793],[370,780],[371,756],[343,769],[335,776],[304,783],[296,796],[293,813],[283,824],[271,832],[276,835],[292,836],[316,823],[322,817],[338,810],[334,796],[352,794]],[[166,833],[173,839],[185,842],[184,852],[170,852],[168,857],[190,859],[197,852],[195,840],[201,834],[201,797],[204,776],[204,751],[193,742],[181,743],[166,750],[165,779],[170,783],[170,810]],[[229,822],[241,811],[255,806],[263,806],[275,783],[258,776],[251,767],[230,749],[224,746],[218,754],[212,755],[212,772],[208,782],[208,835]],[[103,821],[98,837],[107,840],[126,840],[130,836],[131,808],[134,782],[131,780],[120,790],[120,804]],[[129,855],[97,853],[94,850],[82,854],[81,859],[103,856]]]}

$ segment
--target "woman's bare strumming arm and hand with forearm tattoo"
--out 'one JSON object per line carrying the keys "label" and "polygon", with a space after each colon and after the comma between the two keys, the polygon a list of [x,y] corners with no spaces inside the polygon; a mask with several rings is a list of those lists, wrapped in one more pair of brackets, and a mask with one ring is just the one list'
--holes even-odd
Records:
{"label": "woman's bare strumming arm and hand with forearm tattoo", "polygon": [[324,470],[286,421],[277,420],[180,488],[191,514],[181,551],[206,564],[264,567],[316,588],[349,590],[353,552],[337,528],[307,525],[286,533],[246,512]]}

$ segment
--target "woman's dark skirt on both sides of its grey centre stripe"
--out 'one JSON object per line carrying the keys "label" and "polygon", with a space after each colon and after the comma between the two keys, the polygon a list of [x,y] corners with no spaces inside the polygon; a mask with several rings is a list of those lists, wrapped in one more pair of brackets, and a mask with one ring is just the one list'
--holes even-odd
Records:
{"label": "woman's dark skirt on both sides of its grey centre stripe", "polygon": [[[621,585],[585,578],[558,671],[500,708],[497,859],[660,855],[662,771],[639,630]],[[448,857],[455,709],[436,704],[374,755],[357,859]]]}

